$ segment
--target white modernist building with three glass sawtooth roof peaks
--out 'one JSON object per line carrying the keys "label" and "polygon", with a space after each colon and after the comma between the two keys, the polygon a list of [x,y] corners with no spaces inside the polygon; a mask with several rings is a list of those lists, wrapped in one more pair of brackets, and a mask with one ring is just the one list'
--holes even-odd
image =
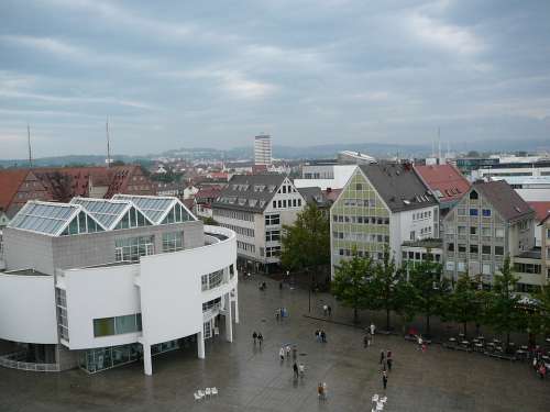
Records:
{"label": "white modernist building with three glass sawtooth roof peaks", "polygon": [[[0,365],[88,372],[197,345],[239,321],[237,236],[172,197],[30,201],[4,229]],[[218,316],[221,315],[221,316]],[[219,319],[224,319],[218,324]]]}

